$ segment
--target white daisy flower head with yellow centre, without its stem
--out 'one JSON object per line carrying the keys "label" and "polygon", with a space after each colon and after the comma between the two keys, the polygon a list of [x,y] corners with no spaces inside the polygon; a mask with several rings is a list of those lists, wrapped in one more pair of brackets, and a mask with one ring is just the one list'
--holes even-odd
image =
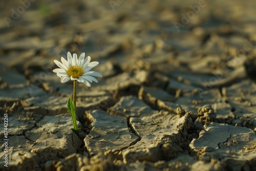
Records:
{"label": "white daisy flower head with yellow centre, without its stem", "polygon": [[63,57],[61,57],[62,63],[58,60],[54,60],[59,68],[54,69],[53,72],[57,73],[57,76],[61,78],[60,81],[62,83],[71,79],[77,80],[78,82],[82,82],[86,84],[86,86],[91,87],[90,82],[98,82],[94,77],[102,77],[102,75],[95,71],[90,71],[93,67],[96,67],[99,64],[99,62],[90,62],[90,60],[90,56],[84,59],[84,53],[82,53],[79,56],[79,59],[77,59],[77,55],[75,53],[72,58],[71,53],[68,52],[68,61]]}

